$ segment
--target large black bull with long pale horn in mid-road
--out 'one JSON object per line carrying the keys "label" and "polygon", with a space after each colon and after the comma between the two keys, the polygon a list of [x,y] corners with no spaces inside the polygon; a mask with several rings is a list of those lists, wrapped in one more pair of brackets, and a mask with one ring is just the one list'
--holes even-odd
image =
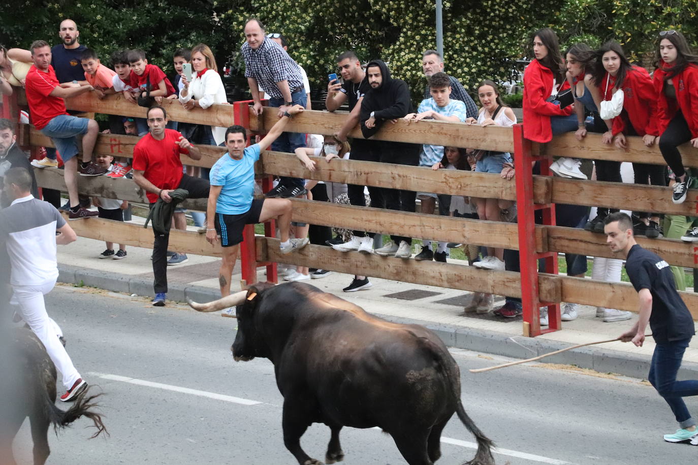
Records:
{"label": "large black bull with long pale horn in mid-road", "polygon": [[283,442],[299,464],[322,464],[300,445],[313,422],[332,430],[328,464],[344,457],[343,426],[378,426],[392,436],[408,464],[433,464],[454,412],[477,439],[477,453],[468,463],[493,463],[492,441],[461,404],[458,365],[430,330],[373,317],[304,283],[260,283],[215,303],[190,302],[209,312],[235,304],[233,356],[274,363],[283,395]]}

